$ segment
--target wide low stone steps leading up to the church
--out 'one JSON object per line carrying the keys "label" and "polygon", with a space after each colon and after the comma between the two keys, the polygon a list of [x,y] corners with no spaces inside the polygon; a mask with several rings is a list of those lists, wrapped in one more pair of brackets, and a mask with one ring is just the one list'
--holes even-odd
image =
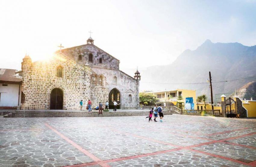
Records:
{"label": "wide low stone steps leading up to the church", "polygon": [[[164,115],[176,114],[176,111],[163,111]],[[102,116],[147,116],[147,110],[133,110],[133,111],[103,111],[102,115],[98,115],[98,111],[35,111],[35,110],[16,110],[14,112],[8,113],[4,118],[13,117],[102,117]]]}

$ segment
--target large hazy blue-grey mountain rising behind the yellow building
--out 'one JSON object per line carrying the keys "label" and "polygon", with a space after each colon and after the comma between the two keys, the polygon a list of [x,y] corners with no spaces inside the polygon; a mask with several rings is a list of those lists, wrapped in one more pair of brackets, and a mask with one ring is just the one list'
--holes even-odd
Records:
{"label": "large hazy blue-grey mountain rising behind the yellow building", "polygon": [[[161,61],[156,63],[161,64]],[[220,97],[218,94],[233,93],[235,88],[256,80],[256,45],[249,47],[237,42],[212,43],[206,40],[195,50],[185,50],[169,65],[151,66],[142,71],[140,87],[141,90],[155,91],[193,89],[197,91],[197,95],[207,94],[210,100],[209,84],[173,84],[206,82],[209,71],[212,76],[214,101],[220,101],[215,99],[215,94]],[[249,80],[219,82],[252,76],[255,77]]]}

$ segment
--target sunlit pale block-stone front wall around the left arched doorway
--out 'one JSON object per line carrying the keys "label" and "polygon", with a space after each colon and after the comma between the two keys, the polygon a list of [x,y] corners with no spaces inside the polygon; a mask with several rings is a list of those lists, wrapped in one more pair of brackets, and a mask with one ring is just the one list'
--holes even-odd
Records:
{"label": "sunlit pale block-stone front wall around the left arched doorway", "polygon": [[[63,76],[57,77],[57,67],[63,67]],[[48,62],[31,62],[29,56],[22,63],[22,91],[25,101],[22,109],[50,109],[52,89],[63,91],[63,109],[79,109],[81,99],[90,98],[89,66],[80,66],[63,54],[54,56]]]}

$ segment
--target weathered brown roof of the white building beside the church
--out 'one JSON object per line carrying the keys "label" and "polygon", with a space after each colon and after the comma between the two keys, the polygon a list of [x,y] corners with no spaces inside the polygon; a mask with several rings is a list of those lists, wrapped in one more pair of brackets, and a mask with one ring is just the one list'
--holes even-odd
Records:
{"label": "weathered brown roof of the white building beside the church", "polygon": [[14,69],[0,68],[0,81],[21,82],[22,76],[16,76]]}

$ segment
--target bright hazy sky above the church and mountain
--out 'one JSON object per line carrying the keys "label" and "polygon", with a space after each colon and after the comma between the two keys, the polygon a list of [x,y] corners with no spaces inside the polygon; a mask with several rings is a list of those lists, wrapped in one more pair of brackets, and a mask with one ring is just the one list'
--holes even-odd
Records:
{"label": "bright hazy sky above the church and mountain", "polygon": [[0,1],[0,68],[20,70],[58,50],[94,44],[120,60],[120,70],[166,65],[206,39],[256,45],[256,0]]}

